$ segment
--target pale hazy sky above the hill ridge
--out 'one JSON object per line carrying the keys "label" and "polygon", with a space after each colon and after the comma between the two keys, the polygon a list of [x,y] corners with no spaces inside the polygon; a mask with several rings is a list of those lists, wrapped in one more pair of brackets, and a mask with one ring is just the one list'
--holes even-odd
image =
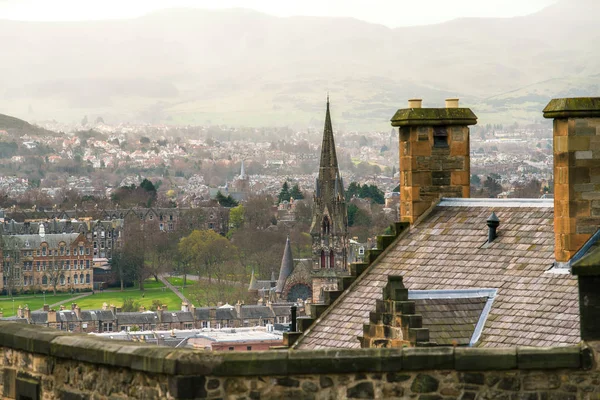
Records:
{"label": "pale hazy sky above the hill ridge", "polygon": [[459,17],[513,17],[557,0],[0,0],[0,19],[73,21],[130,18],[172,7],[242,7],[277,16],[354,17],[387,25],[424,25]]}

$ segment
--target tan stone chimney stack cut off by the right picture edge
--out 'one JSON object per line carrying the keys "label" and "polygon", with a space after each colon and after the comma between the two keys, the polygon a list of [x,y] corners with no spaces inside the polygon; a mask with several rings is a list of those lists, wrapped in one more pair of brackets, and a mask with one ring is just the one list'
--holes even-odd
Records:
{"label": "tan stone chimney stack cut off by the right picture edge", "polygon": [[567,263],[600,228],[600,97],[553,99],[554,254]]}

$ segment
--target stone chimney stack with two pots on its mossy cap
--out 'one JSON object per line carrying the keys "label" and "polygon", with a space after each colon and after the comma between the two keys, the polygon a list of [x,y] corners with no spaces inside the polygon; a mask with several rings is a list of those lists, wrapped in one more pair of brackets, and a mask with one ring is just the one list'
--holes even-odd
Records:
{"label": "stone chimney stack with two pots on its mossy cap", "polygon": [[421,100],[412,99],[396,111],[401,221],[414,223],[441,197],[469,197],[469,125],[476,123],[458,99],[446,100],[446,108],[422,108]]}

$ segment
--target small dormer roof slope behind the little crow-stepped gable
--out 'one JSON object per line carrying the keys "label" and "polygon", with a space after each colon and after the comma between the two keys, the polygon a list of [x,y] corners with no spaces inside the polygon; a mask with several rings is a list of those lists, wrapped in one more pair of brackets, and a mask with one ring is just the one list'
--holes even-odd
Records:
{"label": "small dormer roof slope behind the little crow-stepped gable", "polygon": [[466,346],[487,297],[415,300],[417,314],[423,316],[423,328],[429,329],[429,339],[440,345]]}

